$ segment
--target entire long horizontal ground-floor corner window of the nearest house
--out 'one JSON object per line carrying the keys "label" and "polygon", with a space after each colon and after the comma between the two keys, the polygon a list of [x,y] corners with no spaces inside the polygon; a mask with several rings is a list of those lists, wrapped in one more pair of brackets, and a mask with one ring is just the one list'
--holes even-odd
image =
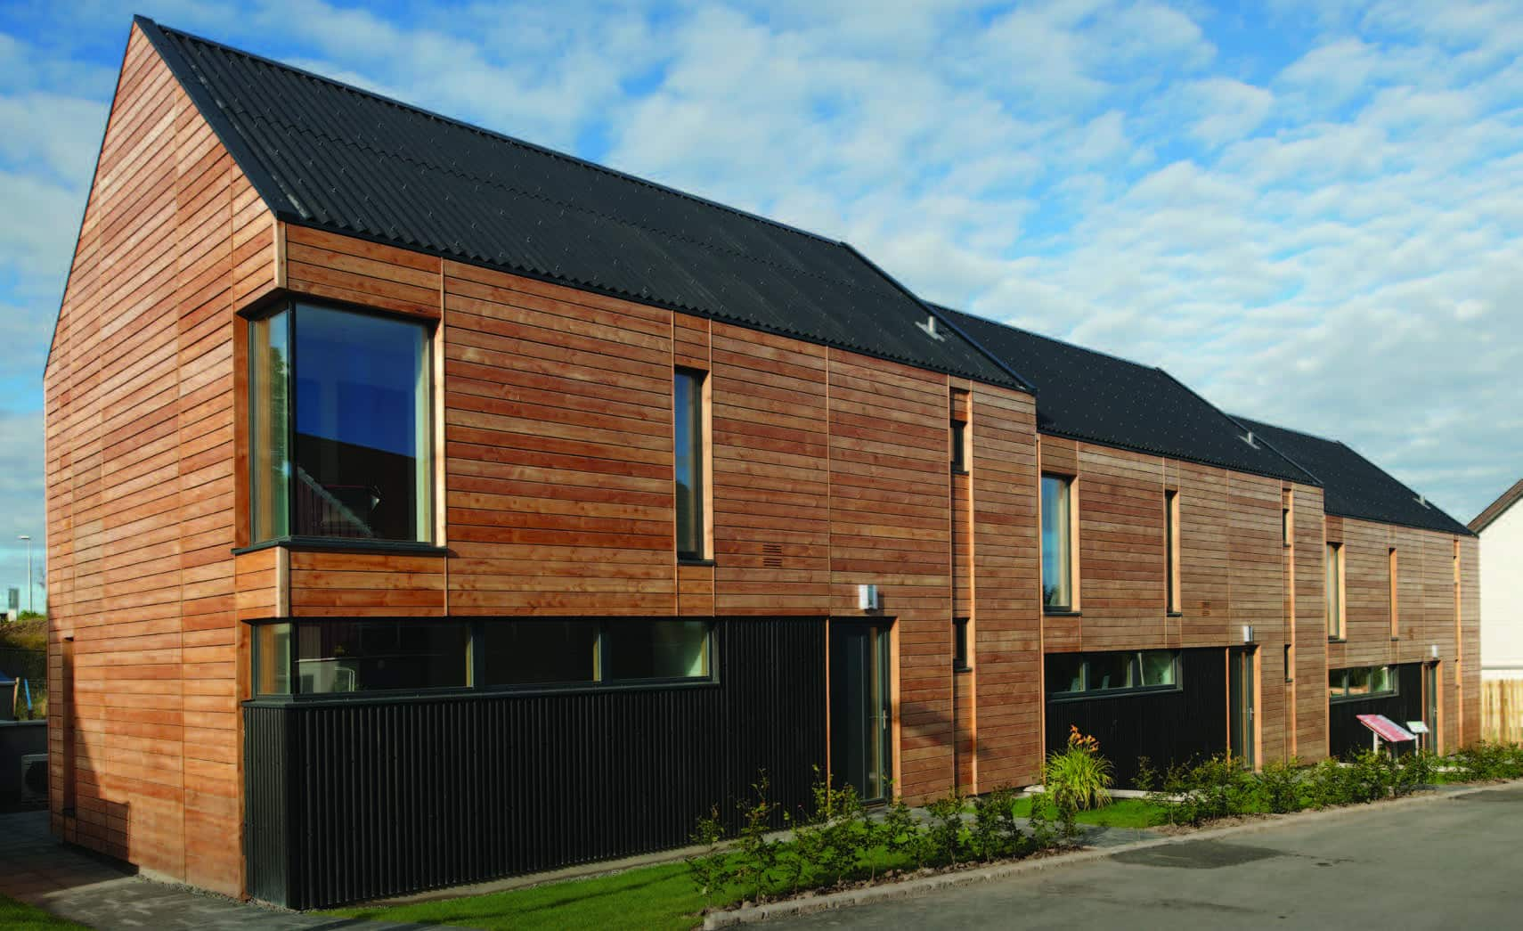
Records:
{"label": "entire long horizontal ground-floor corner window of the nearest house", "polygon": [[713,663],[707,620],[302,620],[254,634],[259,695],[711,681]]}

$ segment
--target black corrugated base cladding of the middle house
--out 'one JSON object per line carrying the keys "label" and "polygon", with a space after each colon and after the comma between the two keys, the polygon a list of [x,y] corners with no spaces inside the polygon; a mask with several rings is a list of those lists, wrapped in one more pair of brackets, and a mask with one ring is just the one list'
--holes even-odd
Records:
{"label": "black corrugated base cladding of the middle house", "polygon": [[1171,762],[1226,753],[1228,669],[1224,651],[1180,651],[1180,689],[1138,692],[1115,698],[1048,701],[1048,753],[1068,744],[1069,725],[1100,741],[1100,753],[1115,765],[1115,785],[1130,788],[1138,757],[1164,771]]}

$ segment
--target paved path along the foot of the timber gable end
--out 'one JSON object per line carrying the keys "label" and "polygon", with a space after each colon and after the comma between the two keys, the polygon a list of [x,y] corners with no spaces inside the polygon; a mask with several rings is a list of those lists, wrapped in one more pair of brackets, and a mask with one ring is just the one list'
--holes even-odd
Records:
{"label": "paved path along the foot of the timber gable end", "polygon": [[59,844],[47,812],[0,815],[0,893],[90,928],[180,931],[402,931],[425,928],[299,914],[184,885],[154,882],[122,864]]}

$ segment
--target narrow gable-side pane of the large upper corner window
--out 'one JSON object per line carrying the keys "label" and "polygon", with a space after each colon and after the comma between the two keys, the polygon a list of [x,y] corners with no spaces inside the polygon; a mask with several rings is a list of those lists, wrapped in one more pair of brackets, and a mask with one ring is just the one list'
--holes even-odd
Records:
{"label": "narrow gable-side pane of the large upper corner window", "polygon": [[289,311],[248,325],[253,539],[291,533]]}

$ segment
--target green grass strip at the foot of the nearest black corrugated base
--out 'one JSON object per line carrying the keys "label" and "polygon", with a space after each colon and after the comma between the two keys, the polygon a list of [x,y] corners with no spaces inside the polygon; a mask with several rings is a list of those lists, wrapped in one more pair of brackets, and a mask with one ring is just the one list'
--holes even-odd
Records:
{"label": "green grass strip at the foot of the nearest black corrugated base", "polygon": [[[717,904],[717,902],[716,902]],[[704,897],[681,862],[506,893],[396,905],[341,908],[329,914],[466,928],[652,928],[687,931]],[[3,922],[0,922],[3,926]]]}

